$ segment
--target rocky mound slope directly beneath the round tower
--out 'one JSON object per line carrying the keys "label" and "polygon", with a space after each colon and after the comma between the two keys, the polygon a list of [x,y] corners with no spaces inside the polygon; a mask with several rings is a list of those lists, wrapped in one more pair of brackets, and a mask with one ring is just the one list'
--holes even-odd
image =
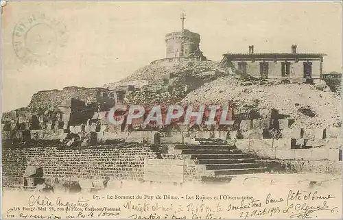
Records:
{"label": "rocky mound slope directly beneath the round tower", "polygon": [[143,66],[121,82],[104,87],[115,89],[120,85],[134,85],[136,89],[126,97],[124,103],[178,103],[191,90],[224,76],[224,71],[217,69],[217,66],[218,62],[213,61],[158,60]]}

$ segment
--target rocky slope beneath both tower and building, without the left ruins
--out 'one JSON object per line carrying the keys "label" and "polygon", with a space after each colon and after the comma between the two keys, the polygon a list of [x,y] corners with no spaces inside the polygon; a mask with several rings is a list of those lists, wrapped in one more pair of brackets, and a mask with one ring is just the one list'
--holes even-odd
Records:
{"label": "rocky slope beneath both tower and building, without the left ruins", "polygon": [[294,119],[292,127],[342,126],[340,93],[332,91],[326,82],[316,85],[261,82],[249,75],[228,75],[228,70],[218,69],[217,65],[211,61],[156,62],[138,69],[119,84],[149,82],[134,91],[126,103],[230,102],[235,106],[235,114],[253,110],[259,117],[267,118],[272,108],[279,110]]}

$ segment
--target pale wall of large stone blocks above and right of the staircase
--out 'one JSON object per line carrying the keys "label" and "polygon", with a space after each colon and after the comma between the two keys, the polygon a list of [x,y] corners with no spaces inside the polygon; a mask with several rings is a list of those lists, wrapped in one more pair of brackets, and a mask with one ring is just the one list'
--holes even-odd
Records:
{"label": "pale wall of large stone blocks above and right of the staircase", "polygon": [[[290,129],[287,125],[282,125],[283,129],[278,131],[278,137],[272,138],[272,130],[261,129],[264,125],[259,125],[257,120],[252,122],[241,121],[240,130],[182,132],[161,138],[161,143],[197,144],[195,138],[218,138],[259,160],[272,164],[275,162],[276,166],[282,165],[286,171],[342,172],[342,128]],[[197,173],[196,169],[189,171],[192,175]]]}

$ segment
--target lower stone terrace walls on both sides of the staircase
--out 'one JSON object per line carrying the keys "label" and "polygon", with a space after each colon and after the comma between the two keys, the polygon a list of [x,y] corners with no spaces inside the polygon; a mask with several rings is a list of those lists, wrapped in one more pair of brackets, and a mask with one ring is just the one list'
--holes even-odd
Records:
{"label": "lower stone terrace walls on both sides of the staircase", "polygon": [[[217,138],[226,140],[229,145],[253,154],[263,162],[276,162],[286,171],[305,171],[319,173],[340,173],[342,171],[342,129],[299,130],[290,129],[287,119],[280,119],[279,138],[265,137],[265,120],[242,120],[237,130],[215,132],[189,131],[183,127],[161,138],[164,149],[152,149],[154,132],[98,132],[98,141],[124,140],[132,143],[128,147],[106,145],[77,147],[77,149],[58,149],[57,147],[3,148],[4,184],[20,184],[21,177],[28,165],[42,166],[47,178],[123,178],[141,180],[145,158],[163,158],[185,160],[185,181],[200,181],[204,175],[204,165],[197,164],[180,150],[174,150],[174,144],[196,144],[195,138]],[[72,132],[80,130],[74,126]],[[264,128],[263,128],[264,127]],[[238,132],[239,131],[239,132]],[[32,131],[32,134],[38,131]],[[270,130],[272,132],[272,130]],[[239,133],[239,136],[237,136]],[[42,138],[56,140],[65,135],[62,130],[47,132]],[[301,143],[307,140],[305,148]],[[143,144],[145,143],[145,144]],[[128,144],[130,145],[130,144]],[[12,178],[7,178],[10,176]]]}

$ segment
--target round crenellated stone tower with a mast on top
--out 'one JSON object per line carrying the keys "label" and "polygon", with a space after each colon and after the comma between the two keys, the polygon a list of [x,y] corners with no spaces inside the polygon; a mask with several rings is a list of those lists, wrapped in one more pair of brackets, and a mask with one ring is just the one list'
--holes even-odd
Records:
{"label": "round crenellated stone tower with a mast on top", "polygon": [[185,29],[185,14],[182,13],[182,31],[171,32],[165,36],[167,58],[202,58],[199,48],[200,34]]}

